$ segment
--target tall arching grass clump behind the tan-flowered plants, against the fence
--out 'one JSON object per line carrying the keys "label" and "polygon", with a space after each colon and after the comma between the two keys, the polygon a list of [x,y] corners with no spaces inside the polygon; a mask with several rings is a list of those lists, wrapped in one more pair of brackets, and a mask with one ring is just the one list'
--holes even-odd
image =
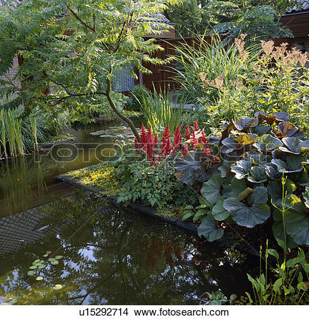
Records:
{"label": "tall arching grass clump behind the tan-flowered plants, against the fence", "polygon": [[[214,36],[211,43],[205,36],[197,36],[193,46],[183,43],[175,48],[176,67],[172,67],[173,78],[181,85],[181,94],[195,104],[201,98],[216,102],[220,98],[218,86],[222,83],[229,85],[231,80],[250,72],[251,63],[258,54],[256,45],[249,47],[250,56],[244,63],[236,45],[225,45],[219,36]],[[206,88],[201,74],[206,74],[207,80],[213,81],[215,85]]]}

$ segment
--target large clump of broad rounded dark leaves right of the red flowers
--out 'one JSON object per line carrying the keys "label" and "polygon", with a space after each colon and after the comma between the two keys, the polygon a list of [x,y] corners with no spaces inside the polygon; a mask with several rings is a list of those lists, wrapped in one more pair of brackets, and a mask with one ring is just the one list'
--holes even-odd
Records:
{"label": "large clump of broad rounded dark leaves right of the red flowers", "polygon": [[[199,217],[198,232],[214,241],[223,234],[218,227],[222,221],[245,228],[267,222],[275,237],[283,240],[287,232],[290,247],[308,245],[309,140],[301,139],[304,131],[288,122],[287,113],[258,112],[255,116],[232,120],[223,126],[221,137],[209,138],[209,144],[218,144],[220,166],[201,188],[207,210]],[[176,175],[186,184],[195,182],[194,175],[183,179],[184,162],[185,157],[176,160]],[[198,167],[201,164],[196,162]]]}

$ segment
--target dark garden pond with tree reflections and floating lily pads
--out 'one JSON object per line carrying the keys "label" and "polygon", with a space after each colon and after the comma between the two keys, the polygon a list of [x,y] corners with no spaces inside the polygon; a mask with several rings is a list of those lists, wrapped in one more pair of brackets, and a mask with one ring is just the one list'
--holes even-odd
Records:
{"label": "dark garden pond with tree reflections and floating lily pads", "polygon": [[[102,142],[96,129],[76,131],[75,143]],[[2,165],[0,304],[199,305],[207,292],[249,291],[251,255],[81,190],[47,200],[54,176],[98,163],[82,156]]]}

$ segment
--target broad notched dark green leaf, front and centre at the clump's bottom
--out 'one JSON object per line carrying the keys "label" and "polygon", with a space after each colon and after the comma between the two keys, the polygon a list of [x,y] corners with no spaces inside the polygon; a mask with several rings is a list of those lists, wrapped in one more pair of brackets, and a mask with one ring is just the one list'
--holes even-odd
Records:
{"label": "broad notched dark green leaf, front and centre at the clump's bottom", "polygon": [[223,202],[223,207],[238,225],[253,228],[271,216],[271,209],[266,205],[267,199],[267,189],[259,186],[253,189],[249,204],[236,198],[228,198]]}

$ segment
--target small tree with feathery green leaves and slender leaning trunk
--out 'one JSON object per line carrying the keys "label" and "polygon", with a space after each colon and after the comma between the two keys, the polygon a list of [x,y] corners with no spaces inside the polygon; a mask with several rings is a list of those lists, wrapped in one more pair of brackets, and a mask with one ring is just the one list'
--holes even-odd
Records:
{"label": "small tree with feathery green leaves and slender leaning trunk", "polygon": [[[116,69],[130,67],[149,73],[142,63],[163,64],[152,54],[162,48],[148,34],[169,26],[152,15],[179,0],[24,0],[1,14],[1,96],[14,99],[2,107],[32,107],[58,111],[73,102],[95,102],[105,96],[115,113],[133,122],[111,98]],[[23,63],[14,78],[4,78],[19,54]],[[16,84],[17,83],[17,84]],[[18,84],[20,83],[20,85]],[[47,90],[47,88],[52,88]]]}

